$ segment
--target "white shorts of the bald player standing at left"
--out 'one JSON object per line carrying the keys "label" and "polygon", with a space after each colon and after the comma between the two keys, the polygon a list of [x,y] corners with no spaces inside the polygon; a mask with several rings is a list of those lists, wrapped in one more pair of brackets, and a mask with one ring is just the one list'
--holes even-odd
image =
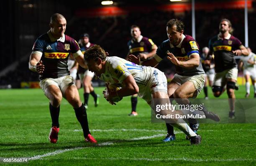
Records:
{"label": "white shorts of the bald player standing at left", "polygon": [[67,87],[74,85],[74,79],[71,76],[64,76],[64,77],[60,77],[60,78],[46,78],[40,81],[40,87],[41,89],[44,91],[46,91],[46,88],[49,85],[55,85],[56,87],[59,87],[59,89],[61,90],[62,95],[64,96]]}

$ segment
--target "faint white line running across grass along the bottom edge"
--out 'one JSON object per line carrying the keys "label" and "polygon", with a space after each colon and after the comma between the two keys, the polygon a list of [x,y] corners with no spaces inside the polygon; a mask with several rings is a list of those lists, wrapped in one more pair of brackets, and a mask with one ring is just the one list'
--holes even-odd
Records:
{"label": "faint white line running across grass along the bottom edge", "polygon": [[219,159],[219,158],[209,158],[209,159],[201,159],[201,158],[82,158],[82,157],[73,157],[72,159],[84,159],[84,160],[135,160],[135,161],[256,161],[254,158],[227,158],[227,159]]}

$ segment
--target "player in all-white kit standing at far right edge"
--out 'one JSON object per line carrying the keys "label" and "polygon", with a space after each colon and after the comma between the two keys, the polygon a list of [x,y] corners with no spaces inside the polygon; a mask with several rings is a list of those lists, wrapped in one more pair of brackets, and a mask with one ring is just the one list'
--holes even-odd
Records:
{"label": "player in all-white kit standing at far right edge", "polygon": [[246,95],[245,97],[250,96],[250,82],[249,79],[251,77],[251,83],[254,88],[254,98],[256,98],[256,54],[251,52],[251,49],[247,48],[249,55],[242,56],[239,62],[239,67],[242,69],[243,66],[243,76],[246,79]]}

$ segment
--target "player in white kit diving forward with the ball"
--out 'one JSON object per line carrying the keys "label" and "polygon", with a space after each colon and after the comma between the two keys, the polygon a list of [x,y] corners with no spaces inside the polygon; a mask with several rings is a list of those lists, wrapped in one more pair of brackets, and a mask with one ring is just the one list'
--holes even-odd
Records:
{"label": "player in white kit diving forward with the ball", "polygon": [[[155,99],[161,100],[161,105],[170,104],[167,94],[167,80],[163,72],[150,67],[134,64],[117,56],[107,57],[105,51],[98,45],[92,46],[84,53],[84,61],[91,72],[94,72],[99,79],[105,81],[107,84],[118,84],[122,87],[115,92],[108,92],[105,95],[112,105],[115,105],[116,98],[122,99],[125,96],[137,94],[146,100],[146,102],[154,108]],[[107,86],[108,87],[108,86]],[[154,99],[154,102],[152,102]],[[166,100],[167,99],[167,100]],[[114,102],[115,101],[115,102]],[[156,110],[154,110],[156,113]],[[202,112],[206,116],[213,115],[210,112]],[[169,111],[163,109],[160,111],[161,115],[184,115],[180,110]],[[217,115],[218,117],[218,115]],[[191,144],[200,144],[201,137],[189,128],[187,123],[182,118],[165,119],[172,126],[182,130],[191,140]],[[219,119],[218,119],[219,120]]]}

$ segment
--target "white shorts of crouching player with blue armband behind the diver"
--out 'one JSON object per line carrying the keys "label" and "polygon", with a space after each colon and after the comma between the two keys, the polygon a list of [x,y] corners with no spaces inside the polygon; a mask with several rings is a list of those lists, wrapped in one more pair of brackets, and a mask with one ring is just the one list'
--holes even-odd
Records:
{"label": "white shorts of crouching player with blue armband behind the diver", "polygon": [[202,88],[204,87],[204,84],[205,84],[204,74],[198,74],[195,76],[181,76],[179,74],[175,74],[174,78],[172,79],[172,82],[175,82],[179,85],[182,85],[187,81],[190,81],[194,84],[196,93],[193,96],[193,98],[196,98],[198,96],[198,94],[200,94]]}

